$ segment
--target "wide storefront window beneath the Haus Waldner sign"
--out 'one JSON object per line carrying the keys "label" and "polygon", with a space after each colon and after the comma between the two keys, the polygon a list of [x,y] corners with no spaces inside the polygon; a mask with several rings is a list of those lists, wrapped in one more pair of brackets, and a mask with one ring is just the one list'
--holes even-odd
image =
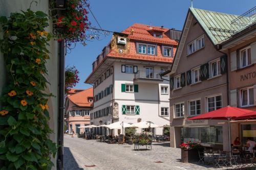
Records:
{"label": "wide storefront window beneath the Haus Waldner sign", "polygon": [[181,128],[181,142],[197,142],[202,145],[223,144],[222,126],[211,127],[183,127]]}

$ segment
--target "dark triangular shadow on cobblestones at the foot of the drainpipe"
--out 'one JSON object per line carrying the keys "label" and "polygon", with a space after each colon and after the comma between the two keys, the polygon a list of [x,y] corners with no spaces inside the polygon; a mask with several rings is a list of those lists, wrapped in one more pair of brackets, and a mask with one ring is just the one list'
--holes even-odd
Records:
{"label": "dark triangular shadow on cobblestones at the foot of the drainpipe", "polygon": [[64,157],[63,157],[63,169],[64,170],[83,170],[83,168],[80,168],[70,152],[70,149],[68,147],[64,147]]}

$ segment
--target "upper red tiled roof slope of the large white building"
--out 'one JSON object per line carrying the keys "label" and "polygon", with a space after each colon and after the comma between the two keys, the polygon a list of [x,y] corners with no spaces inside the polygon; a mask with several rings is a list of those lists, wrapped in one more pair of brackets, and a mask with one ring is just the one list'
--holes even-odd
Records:
{"label": "upper red tiled roof slope of the large white building", "polygon": [[[132,29],[133,29],[133,35],[131,35],[131,30]],[[157,38],[157,37],[152,36],[150,34],[150,32],[148,32],[148,31],[151,31],[151,30],[156,30],[156,31],[163,32],[163,37],[162,38]],[[150,28],[150,26],[143,25],[143,24],[140,24],[140,23],[135,23],[131,27],[122,31],[122,33],[129,34],[128,38],[130,38],[130,39],[178,45],[177,41],[170,39],[169,37],[167,37],[164,34],[168,30],[169,29],[167,29],[167,28],[161,28],[161,27],[155,27],[155,26],[152,26]]]}

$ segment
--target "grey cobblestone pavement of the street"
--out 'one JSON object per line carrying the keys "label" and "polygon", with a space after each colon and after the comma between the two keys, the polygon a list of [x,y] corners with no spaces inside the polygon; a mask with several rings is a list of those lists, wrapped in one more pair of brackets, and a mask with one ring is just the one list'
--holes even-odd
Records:
{"label": "grey cobblestone pavement of the street", "polygon": [[[154,143],[152,150],[134,151],[129,144],[108,144],[96,140],[64,137],[64,169],[86,170],[191,170],[219,169],[212,166],[180,162],[180,149],[168,143]],[[161,163],[156,163],[160,161]]]}

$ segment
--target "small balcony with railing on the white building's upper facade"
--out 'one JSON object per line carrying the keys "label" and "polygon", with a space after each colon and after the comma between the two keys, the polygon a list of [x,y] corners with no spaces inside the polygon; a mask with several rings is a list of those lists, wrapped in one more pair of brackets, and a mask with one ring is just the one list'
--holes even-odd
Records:
{"label": "small balcony with railing on the white building's upper facade", "polygon": [[134,82],[138,83],[161,83],[163,79],[160,77],[160,70],[155,71],[153,69],[149,70],[138,70],[134,74]]}

